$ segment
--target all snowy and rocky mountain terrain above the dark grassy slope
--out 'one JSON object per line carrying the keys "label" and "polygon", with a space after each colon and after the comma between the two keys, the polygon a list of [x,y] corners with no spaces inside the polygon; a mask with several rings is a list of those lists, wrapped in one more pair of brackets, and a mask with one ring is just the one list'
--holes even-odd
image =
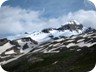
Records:
{"label": "all snowy and rocky mountain terrain above the dark grassy slope", "polygon": [[73,20],[58,28],[0,39],[0,62],[7,63],[30,52],[58,53],[62,48],[80,51],[96,44],[95,33],[95,29],[84,30],[82,24]]}

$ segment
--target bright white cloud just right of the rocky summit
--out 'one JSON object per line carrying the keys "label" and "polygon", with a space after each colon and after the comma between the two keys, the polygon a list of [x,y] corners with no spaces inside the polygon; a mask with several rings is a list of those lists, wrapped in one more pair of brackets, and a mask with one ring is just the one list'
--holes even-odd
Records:
{"label": "bright white cloud just right of the rocky summit", "polygon": [[74,19],[78,20],[85,27],[93,27],[96,28],[96,11],[89,10],[79,10],[75,13],[71,14]]}

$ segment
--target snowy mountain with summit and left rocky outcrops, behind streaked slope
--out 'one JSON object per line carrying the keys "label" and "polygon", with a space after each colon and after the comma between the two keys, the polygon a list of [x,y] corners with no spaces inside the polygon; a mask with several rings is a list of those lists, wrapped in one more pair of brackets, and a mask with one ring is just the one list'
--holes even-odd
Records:
{"label": "snowy mountain with summit and left rocky outcrops, behind streaked slope", "polygon": [[61,37],[69,37],[82,33],[83,25],[76,20],[69,21],[59,28],[46,28],[40,32],[18,34],[0,40],[0,54],[19,55],[26,54],[38,45],[51,42]]}

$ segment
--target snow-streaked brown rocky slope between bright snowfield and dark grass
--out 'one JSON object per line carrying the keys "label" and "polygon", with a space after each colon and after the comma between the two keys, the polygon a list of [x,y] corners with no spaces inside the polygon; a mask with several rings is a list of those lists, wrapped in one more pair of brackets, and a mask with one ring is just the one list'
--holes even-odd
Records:
{"label": "snow-streaked brown rocky slope between bright snowfield and dark grass", "polygon": [[80,52],[84,48],[90,49],[95,45],[96,32],[51,39],[51,41],[42,44],[30,37],[8,40],[7,43],[0,46],[0,62],[6,64],[30,53],[59,53],[66,50]]}

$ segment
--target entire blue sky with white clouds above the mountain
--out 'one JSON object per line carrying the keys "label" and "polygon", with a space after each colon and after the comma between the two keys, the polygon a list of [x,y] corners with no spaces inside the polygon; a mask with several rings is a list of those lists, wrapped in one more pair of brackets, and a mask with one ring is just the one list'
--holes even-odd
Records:
{"label": "entire blue sky with white clouds above the mountain", "polygon": [[76,19],[96,28],[96,8],[88,0],[8,0],[0,8],[0,37],[60,27]]}

